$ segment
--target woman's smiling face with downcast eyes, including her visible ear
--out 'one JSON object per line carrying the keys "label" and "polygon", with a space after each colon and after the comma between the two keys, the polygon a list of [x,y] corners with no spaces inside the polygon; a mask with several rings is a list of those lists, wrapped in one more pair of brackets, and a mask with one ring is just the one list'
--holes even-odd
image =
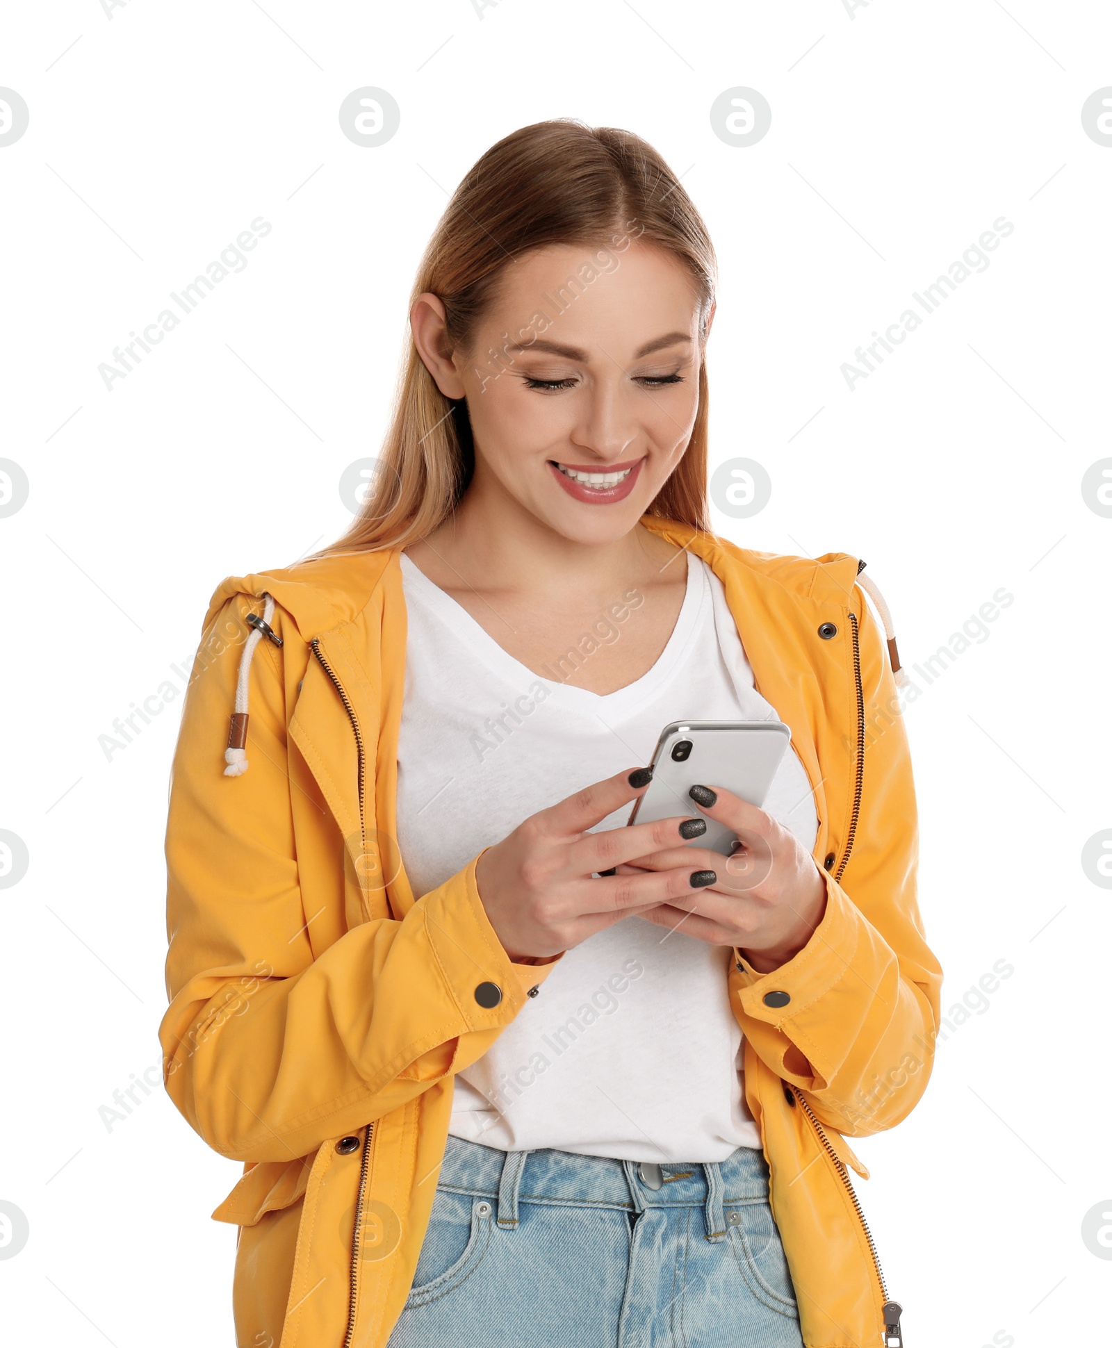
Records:
{"label": "woman's smiling face with downcast eyes, including her visible ear", "polygon": [[472,504],[516,506],[582,543],[627,534],[698,408],[700,298],[683,264],[628,239],[535,249],[507,264],[472,350],[450,359],[433,298],[414,306],[414,334],[441,391],[466,396]]}

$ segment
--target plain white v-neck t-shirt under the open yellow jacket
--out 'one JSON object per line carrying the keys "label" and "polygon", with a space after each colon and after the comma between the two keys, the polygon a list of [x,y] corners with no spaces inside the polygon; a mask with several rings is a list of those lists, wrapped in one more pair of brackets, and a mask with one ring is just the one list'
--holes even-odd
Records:
{"label": "plain white v-neck t-shirt under the open yellow jacket", "polygon": [[[690,554],[667,646],[647,674],[607,694],[559,682],[572,667],[566,652],[553,651],[551,679],[534,674],[404,554],[402,574],[398,841],[415,895],[530,814],[651,762],[670,721],[778,720],[753,687],[721,582]],[[574,659],[620,640],[616,615],[628,619],[639,601],[635,592],[616,596]],[[629,809],[597,828],[624,825]],[[794,749],[764,809],[813,849],[814,798]],[[456,1077],[449,1131],[505,1151],[559,1147],[655,1162],[724,1161],[739,1146],[760,1146],[741,1089],[729,960],[727,946],[638,917],[589,937]]]}

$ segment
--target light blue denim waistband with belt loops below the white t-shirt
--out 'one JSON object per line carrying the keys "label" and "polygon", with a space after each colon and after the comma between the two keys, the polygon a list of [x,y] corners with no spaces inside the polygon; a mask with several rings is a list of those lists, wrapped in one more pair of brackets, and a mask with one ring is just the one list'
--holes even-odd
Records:
{"label": "light blue denim waistband with belt loops below the white t-shirt", "polygon": [[[768,1201],[768,1166],[756,1147],[737,1147],[725,1161],[669,1162],[651,1188],[636,1161],[574,1151],[500,1151],[449,1134],[438,1186],[493,1198],[499,1227],[518,1225],[518,1204],[621,1208],[701,1206],[706,1235],[727,1233],[724,1209]],[[648,1171],[648,1178],[655,1178]]]}

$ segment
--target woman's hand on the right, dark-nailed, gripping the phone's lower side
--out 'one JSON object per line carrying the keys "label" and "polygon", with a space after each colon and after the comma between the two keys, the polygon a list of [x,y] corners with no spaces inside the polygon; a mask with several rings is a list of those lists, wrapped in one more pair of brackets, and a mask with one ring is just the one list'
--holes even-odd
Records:
{"label": "woman's hand on the right, dark-nailed, gripping the phone's lower side", "polygon": [[717,871],[709,888],[669,899],[639,917],[682,929],[710,945],[736,946],[759,973],[771,973],[803,949],[822,921],[824,875],[795,836],[758,806],[721,787],[693,786],[690,795],[704,814],[733,829],[741,842],[729,857],[677,847],[620,867],[631,875],[673,867],[686,874],[693,865]]}

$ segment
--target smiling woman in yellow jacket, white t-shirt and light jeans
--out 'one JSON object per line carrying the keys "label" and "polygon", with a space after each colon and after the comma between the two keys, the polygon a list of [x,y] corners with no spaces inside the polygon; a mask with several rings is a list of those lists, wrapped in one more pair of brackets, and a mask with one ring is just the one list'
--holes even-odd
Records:
{"label": "smiling woman in yellow jacket, white t-shirt and light jeans", "polygon": [[[213,596],[162,1042],[240,1344],[900,1341],[842,1138],[938,1012],[895,643],[856,558],[706,531],[713,286],[644,142],[508,136],[352,531]],[[625,826],[678,717],[789,724],[766,809]]]}

